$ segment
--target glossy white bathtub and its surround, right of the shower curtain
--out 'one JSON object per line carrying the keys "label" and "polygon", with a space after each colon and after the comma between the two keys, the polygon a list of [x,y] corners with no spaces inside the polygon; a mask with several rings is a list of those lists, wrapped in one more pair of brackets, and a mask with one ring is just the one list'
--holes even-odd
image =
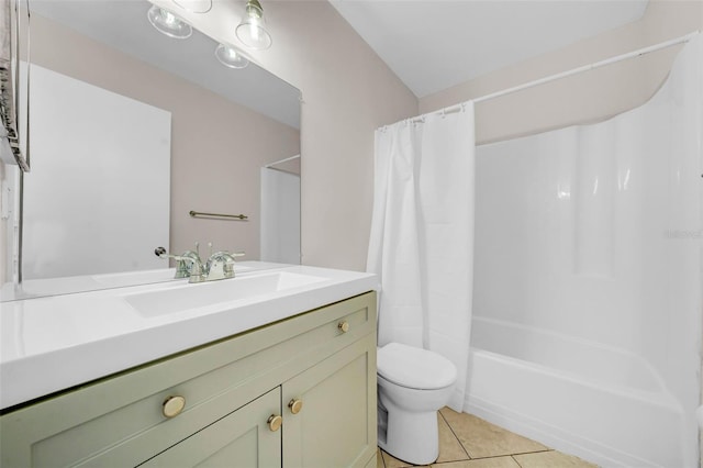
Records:
{"label": "glossy white bathtub and its surround, right of the shower curtain", "polygon": [[603,466],[698,465],[702,85],[699,34],[640,108],[477,149],[471,411]]}

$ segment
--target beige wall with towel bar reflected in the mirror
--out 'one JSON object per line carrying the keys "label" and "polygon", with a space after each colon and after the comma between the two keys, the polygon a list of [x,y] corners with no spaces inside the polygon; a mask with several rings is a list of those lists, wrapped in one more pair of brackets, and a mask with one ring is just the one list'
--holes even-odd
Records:
{"label": "beige wall with towel bar reflected in the mirror", "polygon": [[[200,241],[207,254],[212,242],[215,249],[258,259],[259,168],[300,153],[297,129],[38,15],[32,18],[32,62],[171,112],[170,249]],[[249,137],[260,134],[267,136]],[[190,210],[250,218],[197,220]]]}

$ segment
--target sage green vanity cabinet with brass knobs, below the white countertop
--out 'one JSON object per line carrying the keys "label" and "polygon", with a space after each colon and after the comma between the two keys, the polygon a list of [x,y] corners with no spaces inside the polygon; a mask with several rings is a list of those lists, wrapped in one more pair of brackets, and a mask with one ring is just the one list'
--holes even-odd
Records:
{"label": "sage green vanity cabinet with brass knobs, below the white countertop", "polygon": [[368,292],[10,409],[0,466],[375,466],[376,411]]}

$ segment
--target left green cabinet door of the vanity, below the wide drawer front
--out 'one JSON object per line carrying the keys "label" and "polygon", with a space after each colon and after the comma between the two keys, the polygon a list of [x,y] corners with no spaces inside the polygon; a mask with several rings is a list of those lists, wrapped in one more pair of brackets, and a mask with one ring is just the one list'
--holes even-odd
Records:
{"label": "left green cabinet door of the vanity, below the wide drawer front", "polygon": [[268,425],[280,404],[277,387],[140,466],[280,468],[281,431]]}

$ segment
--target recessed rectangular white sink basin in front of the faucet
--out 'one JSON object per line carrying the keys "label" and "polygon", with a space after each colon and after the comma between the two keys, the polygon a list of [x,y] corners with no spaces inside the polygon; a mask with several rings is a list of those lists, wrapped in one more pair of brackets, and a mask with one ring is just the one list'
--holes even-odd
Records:
{"label": "recessed rectangular white sink basin in front of the faucet", "polygon": [[126,296],[124,299],[140,315],[149,317],[271,294],[313,285],[325,279],[312,275],[276,271],[220,281],[183,285]]}

